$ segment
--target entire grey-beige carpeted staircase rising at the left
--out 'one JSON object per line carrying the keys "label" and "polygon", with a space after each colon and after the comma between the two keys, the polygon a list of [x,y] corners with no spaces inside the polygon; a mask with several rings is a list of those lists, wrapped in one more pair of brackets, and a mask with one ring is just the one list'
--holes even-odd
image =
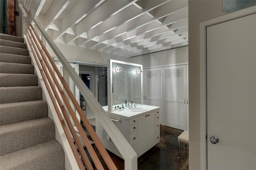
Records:
{"label": "entire grey-beige carpeted staircase rising at the left", "polygon": [[64,151],[23,42],[0,34],[0,170],[63,170]]}

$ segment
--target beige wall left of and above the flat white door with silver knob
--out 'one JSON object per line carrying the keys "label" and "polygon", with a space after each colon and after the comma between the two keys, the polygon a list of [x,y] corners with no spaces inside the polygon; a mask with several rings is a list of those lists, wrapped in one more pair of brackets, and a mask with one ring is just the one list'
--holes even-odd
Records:
{"label": "beige wall left of and above the flat white door with silver knob", "polygon": [[[189,0],[189,169],[200,170],[199,23],[225,15],[221,0]],[[225,161],[225,160],[223,160]]]}

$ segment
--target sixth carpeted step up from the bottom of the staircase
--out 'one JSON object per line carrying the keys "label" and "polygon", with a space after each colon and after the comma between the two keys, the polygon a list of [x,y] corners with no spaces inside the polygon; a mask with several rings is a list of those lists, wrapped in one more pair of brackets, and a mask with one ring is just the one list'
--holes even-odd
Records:
{"label": "sixth carpeted step up from the bottom of the staircase", "polygon": [[34,74],[34,66],[31,64],[0,63],[0,73],[8,74]]}

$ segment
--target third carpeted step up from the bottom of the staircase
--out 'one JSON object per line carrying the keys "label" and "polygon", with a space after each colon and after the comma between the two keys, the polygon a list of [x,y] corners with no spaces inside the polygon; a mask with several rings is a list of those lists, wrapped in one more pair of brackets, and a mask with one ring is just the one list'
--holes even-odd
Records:
{"label": "third carpeted step up from the bottom of the staircase", "polygon": [[48,117],[48,105],[43,100],[0,105],[0,125],[8,125]]}

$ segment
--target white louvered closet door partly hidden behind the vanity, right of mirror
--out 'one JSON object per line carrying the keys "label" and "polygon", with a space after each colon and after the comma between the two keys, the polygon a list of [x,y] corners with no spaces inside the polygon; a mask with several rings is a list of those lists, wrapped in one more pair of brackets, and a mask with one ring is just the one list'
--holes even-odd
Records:
{"label": "white louvered closet door partly hidden behind the vanity, right of mirror", "polygon": [[163,69],[147,68],[144,69],[144,84],[145,96],[144,101],[146,105],[160,107],[160,124],[163,125]]}

